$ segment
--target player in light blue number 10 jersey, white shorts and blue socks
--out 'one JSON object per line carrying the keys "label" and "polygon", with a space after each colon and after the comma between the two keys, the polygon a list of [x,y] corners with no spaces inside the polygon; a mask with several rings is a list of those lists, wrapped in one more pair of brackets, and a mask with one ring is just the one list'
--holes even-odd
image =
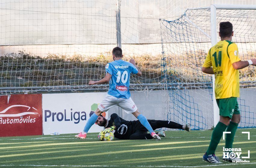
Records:
{"label": "player in light blue number 10 jersey, white shorts and blue socks", "polygon": [[[141,122],[141,124],[147,128],[155,140],[161,140],[161,138],[155,133],[155,131],[148,123],[146,117],[139,113],[136,105],[130,98],[130,74],[134,73],[138,76],[141,76],[141,71],[136,66],[133,59],[131,59],[130,62],[122,60],[123,54],[121,48],[115,47],[112,51],[112,55],[114,61],[106,65],[106,76],[101,80],[89,82],[89,85],[97,85],[109,82],[108,95],[104,98],[101,104],[99,104],[95,113],[89,118],[83,132],[76,135],[75,137],[85,139],[87,132],[96,122],[98,116],[103,113],[103,111],[108,111],[112,107],[119,106],[126,112],[132,113]],[[114,129],[114,127],[106,128],[105,132],[113,131]]]}

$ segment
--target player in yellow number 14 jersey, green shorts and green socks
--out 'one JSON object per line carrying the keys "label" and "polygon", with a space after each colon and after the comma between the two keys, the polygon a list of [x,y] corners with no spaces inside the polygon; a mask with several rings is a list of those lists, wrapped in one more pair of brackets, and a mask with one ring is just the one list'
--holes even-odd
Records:
{"label": "player in yellow number 14 jersey, green shorts and green socks", "polygon": [[[240,111],[237,97],[239,97],[239,69],[249,65],[256,65],[256,59],[241,61],[238,48],[232,43],[233,25],[230,22],[220,23],[220,41],[208,52],[204,61],[202,71],[215,76],[215,97],[220,109],[220,121],[213,130],[211,142],[203,159],[209,163],[222,163],[215,156],[215,150],[220,142],[223,132],[226,134],[225,148],[232,148],[237,126],[240,122]],[[230,161],[240,160],[239,158],[226,158]]]}

